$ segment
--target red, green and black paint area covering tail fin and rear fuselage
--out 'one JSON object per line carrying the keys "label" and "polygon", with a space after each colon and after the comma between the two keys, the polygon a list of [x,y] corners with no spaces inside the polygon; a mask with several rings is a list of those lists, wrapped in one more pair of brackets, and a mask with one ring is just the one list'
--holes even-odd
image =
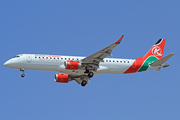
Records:
{"label": "red, green and black paint area covering tail fin and rear fuselage", "polygon": [[166,39],[159,39],[145,56],[135,59],[132,66],[129,67],[129,69],[127,69],[124,73],[146,71],[150,63],[162,58],[165,42]]}

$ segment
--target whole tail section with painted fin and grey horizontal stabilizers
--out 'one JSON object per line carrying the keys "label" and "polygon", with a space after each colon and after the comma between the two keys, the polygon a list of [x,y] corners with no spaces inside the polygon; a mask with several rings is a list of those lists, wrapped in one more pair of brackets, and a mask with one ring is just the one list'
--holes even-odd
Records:
{"label": "whole tail section with painted fin and grey horizontal stabilizers", "polygon": [[161,66],[161,67],[158,67],[157,70],[159,70],[162,67],[163,68],[168,67],[169,65],[165,64],[164,62],[166,62],[174,54],[172,53],[162,58],[165,42],[166,42],[166,39],[159,39],[155,43],[155,45],[153,45],[152,48],[146,53],[145,56],[135,59],[131,67],[129,67],[124,73],[146,71],[149,68],[149,66],[151,67]]}

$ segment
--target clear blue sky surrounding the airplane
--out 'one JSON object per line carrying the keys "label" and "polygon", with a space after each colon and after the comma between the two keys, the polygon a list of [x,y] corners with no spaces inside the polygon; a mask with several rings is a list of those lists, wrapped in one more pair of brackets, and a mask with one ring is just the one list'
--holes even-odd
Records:
{"label": "clear blue sky surrounding the airplane", "polygon": [[[179,120],[180,2],[177,0],[4,0],[0,2],[1,120]],[[94,76],[81,87],[57,72],[3,66],[22,53],[88,56],[125,35],[114,58],[143,56],[166,38],[170,67]]]}

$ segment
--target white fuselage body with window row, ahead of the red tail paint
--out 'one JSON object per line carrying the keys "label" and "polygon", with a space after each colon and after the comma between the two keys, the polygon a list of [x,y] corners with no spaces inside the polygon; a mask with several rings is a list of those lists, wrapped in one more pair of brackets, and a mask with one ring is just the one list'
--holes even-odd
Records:
{"label": "white fuselage body with window row, ahead of the red tail paint", "polygon": [[[18,57],[8,60],[4,65],[10,68],[25,70],[47,70],[57,71],[66,74],[84,74],[84,69],[68,70],[65,69],[64,62],[74,60],[81,62],[85,57],[78,56],[59,56],[59,55],[37,55],[37,54],[20,54]],[[100,62],[99,68],[94,73],[98,74],[123,74],[135,60],[105,58]]]}

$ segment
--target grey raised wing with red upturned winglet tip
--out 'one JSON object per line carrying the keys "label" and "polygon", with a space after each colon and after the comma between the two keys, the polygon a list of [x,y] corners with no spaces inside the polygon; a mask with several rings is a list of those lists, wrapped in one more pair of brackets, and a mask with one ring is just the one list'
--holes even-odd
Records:
{"label": "grey raised wing with red upturned winglet tip", "polygon": [[112,43],[111,45],[105,47],[104,49],[84,58],[82,60],[82,65],[83,66],[90,66],[94,68],[94,71],[97,70],[97,68],[99,67],[99,63],[103,62],[103,59],[107,56],[112,56],[111,52],[112,49],[114,49],[118,44],[120,44],[120,42],[122,41],[124,35],[122,35],[122,37],[116,41],[115,43]]}

